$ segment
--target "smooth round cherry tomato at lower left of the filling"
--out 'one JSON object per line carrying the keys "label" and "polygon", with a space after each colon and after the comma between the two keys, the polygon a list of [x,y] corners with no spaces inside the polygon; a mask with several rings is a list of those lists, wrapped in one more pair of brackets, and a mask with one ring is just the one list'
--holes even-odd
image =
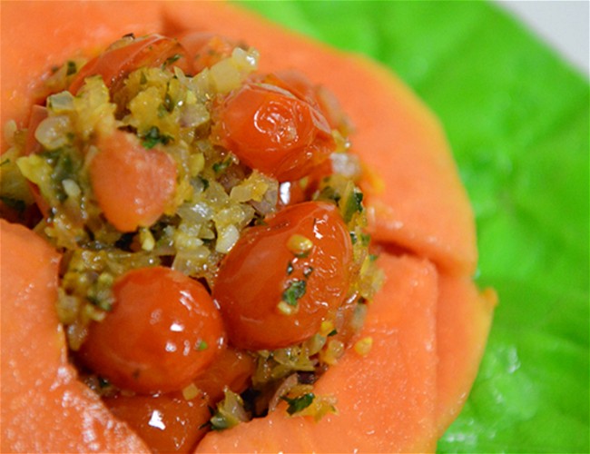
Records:
{"label": "smooth round cherry tomato at lower left of the filling", "polygon": [[90,325],[82,360],[124,390],[182,390],[219,354],[223,329],[209,292],[180,271],[127,271],[115,303]]}

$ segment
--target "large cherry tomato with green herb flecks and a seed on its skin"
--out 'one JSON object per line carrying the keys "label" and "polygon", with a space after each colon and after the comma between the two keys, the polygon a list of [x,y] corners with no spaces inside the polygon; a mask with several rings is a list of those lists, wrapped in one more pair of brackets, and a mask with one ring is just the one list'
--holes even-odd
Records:
{"label": "large cherry tomato with green herb flecks and a seed on its skin", "polygon": [[244,232],[221,263],[213,299],[238,348],[310,338],[349,290],[352,242],[338,209],[304,202]]}

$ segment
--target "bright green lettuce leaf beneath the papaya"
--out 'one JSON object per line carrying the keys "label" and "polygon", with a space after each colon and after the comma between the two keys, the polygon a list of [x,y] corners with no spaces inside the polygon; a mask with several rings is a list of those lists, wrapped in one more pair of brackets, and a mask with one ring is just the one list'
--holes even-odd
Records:
{"label": "bright green lettuce leaf beneath the papaya", "polygon": [[398,73],[438,114],[500,305],[440,452],[589,452],[589,88],[480,2],[247,2]]}

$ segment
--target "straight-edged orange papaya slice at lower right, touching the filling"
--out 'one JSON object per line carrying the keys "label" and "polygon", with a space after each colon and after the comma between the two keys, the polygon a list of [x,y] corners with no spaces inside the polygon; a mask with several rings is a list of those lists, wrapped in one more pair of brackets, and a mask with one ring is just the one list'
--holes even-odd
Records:
{"label": "straight-edged orange papaya slice at lower right, touching the filling", "polygon": [[438,279],[428,261],[379,258],[387,275],[358,337],[316,383],[314,393],[338,400],[338,414],[320,421],[284,409],[231,430],[210,432],[196,452],[416,452],[436,445],[436,307]]}

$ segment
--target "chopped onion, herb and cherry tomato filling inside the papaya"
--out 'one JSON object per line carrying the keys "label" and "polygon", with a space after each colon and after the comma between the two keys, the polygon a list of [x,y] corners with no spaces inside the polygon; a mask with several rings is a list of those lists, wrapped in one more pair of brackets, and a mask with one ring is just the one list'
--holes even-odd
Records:
{"label": "chopped onion, herb and cherry tomato filling inside the papaya", "polygon": [[259,58],[217,35],[125,35],[55,67],[28,127],[5,128],[2,215],[62,253],[70,360],[156,451],[154,430],[189,450],[269,411],[336,412],[314,382],[370,350],[355,334],[381,274],[352,126]]}

